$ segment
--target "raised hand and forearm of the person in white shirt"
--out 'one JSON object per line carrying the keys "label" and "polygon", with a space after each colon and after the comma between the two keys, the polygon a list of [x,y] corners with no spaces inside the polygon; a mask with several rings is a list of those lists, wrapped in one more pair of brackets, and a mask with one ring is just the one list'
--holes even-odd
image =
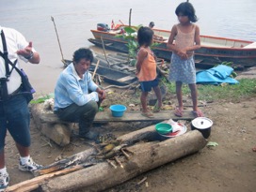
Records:
{"label": "raised hand and forearm of the person in white shirt", "polygon": [[18,50],[17,54],[23,56],[31,64],[40,63],[40,54],[38,52],[33,52],[32,42],[29,42],[28,46],[26,46],[24,49]]}

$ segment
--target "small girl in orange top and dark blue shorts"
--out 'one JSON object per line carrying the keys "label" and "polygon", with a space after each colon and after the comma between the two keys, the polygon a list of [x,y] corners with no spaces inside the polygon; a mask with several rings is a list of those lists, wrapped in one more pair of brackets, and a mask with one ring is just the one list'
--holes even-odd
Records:
{"label": "small girl in orange top and dark blue shorts", "polygon": [[156,74],[156,63],[153,52],[150,48],[152,45],[153,31],[149,27],[140,27],[137,32],[137,42],[139,50],[137,52],[136,62],[136,77],[140,82],[141,96],[140,102],[142,106],[141,114],[143,116],[152,118],[153,114],[147,108],[147,96],[151,90],[157,98],[157,103],[154,112],[160,111],[162,107],[162,96],[158,86],[158,79]]}

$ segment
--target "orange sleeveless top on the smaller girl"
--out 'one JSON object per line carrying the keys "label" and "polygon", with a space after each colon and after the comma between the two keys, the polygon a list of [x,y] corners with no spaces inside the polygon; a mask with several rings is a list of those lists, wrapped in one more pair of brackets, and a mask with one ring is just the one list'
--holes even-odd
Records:
{"label": "orange sleeveless top on the smaller girl", "polygon": [[[138,52],[140,52],[142,49],[145,48],[140,48]],[[138,81],[152,81],[156,78],[156,63],[153,53],[151,50],[145,50],[148,52],[148,55],[143,60],[140,71],[136,75]]]}

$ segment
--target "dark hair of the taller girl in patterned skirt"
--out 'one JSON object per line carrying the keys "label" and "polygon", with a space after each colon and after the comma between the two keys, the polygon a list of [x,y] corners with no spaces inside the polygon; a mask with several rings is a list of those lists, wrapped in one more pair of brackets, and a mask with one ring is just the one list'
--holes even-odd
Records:
{"label": "dark hair of the taller girl in patterned skirt", "polygon": [[198,17],[196,16],[196,10],[189,2],[181,3],[175,10],[175,14],[183,14],[187,16],[190,22],[198,22]]}

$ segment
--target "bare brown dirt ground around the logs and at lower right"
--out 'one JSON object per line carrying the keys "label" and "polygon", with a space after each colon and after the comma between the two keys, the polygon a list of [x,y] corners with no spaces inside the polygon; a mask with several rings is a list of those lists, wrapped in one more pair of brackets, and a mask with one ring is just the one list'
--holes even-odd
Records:
{"label": "bare brown dirt ground around the logs and at lower right", "polygon": [[[131,93],[127,92],[124,99],[130,98],[133,102],[135,95]],[[111,97],[113,101],[115,97]],[[168,99],[170,103],[176,102],[174,96]],[[106,191],[255,191],[256,152],[252,151],[252,147],[256,146],[256,97],[236,103],[228,101],[208,103],[201,110],[214,122],[208,140],[216,142],[217,146],[206,146],[197,154],[169,162]],[[189,122],[185,122],[185,125],[190,131]],[[145,126],[150,124],[112,123],[95,128],[102,133],[111,132],[120,136]],[[40,134],[33,119],[31,119],[31,136],[31,155],[42,165],[52,164],[59,158],[79,153],[89,147],[87,140],[75,137],[72,137],[72,142],[68,146],[59,147]],[[33,178],[31,173],[18,170],[19,155],[9,134],[6,144],[6,164],[10,185]],[[145,177],[147,177],[146,181],[137,185]]]}

